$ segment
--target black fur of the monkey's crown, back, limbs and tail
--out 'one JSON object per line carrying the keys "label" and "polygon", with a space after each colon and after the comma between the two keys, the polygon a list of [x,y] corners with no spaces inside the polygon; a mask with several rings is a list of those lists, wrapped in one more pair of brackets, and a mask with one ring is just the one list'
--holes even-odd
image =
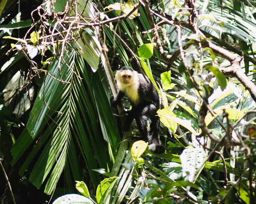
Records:
{"label": "black fur of the monkey's crown, back, limbs and tail", "polygon": [[[142,74],[139,74],[129,66],[124,66],[120,70],[130,70],[134,74],[138,75],[139,87],[138,87],[138,95],[139,101],[133,103],[133,101],[129,100],[132,109],[128,112],[126,117],[126,122],[124,124],[124,131],[128,131],[130,125],[135,118],[138,130],[140,131],[143,140],[148,140],[149,142],[149,150],[155,153],[164,153],[165,148],[160,145],[159,142],[159,133],[160,133],[160,120],[157,115],[157,110],[160,108],[159,103],[159,95],[157,93],[157,89],[150,81],[149,83],[145,80]],[[116,107],[116,105],[121,101],[123,96],[127,96],[127,94],[121,90],[119,90],[116,98],[112,101],[112,105]],[[128,97],[129,98],[129,97]],[[148,120],[150,123],[150,131],[147,131]]]}

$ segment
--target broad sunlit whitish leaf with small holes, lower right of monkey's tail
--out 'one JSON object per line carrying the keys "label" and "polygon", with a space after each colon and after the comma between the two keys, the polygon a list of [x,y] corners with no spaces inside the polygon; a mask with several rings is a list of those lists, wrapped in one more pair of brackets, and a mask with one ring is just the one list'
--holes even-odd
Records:
{"label": "broad sunlit whitish leaf with small holes, lower right of monkey's tail", "polygon": [[188,176],[190,182],[195,182],[197,176],[205,166],[203,163],[203,150],[200,148],[184,149],[180,158],[183,176]]}

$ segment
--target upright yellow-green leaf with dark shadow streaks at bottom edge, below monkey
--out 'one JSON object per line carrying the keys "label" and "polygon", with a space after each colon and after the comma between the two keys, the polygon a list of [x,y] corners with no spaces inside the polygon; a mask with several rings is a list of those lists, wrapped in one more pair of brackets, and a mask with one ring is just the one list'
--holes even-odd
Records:
{"label": "upright yellow-green leaf with dark shadow streaks at bottom edge, below monkey", "polygon": [[105,178],[102,182],[100,182],[96,190],[96,199],[99,204],[104,202],[108,190],[110,190],[111,187],[114,186],[115,182],[117,181],[117,178],[118,177],[116,176]]}

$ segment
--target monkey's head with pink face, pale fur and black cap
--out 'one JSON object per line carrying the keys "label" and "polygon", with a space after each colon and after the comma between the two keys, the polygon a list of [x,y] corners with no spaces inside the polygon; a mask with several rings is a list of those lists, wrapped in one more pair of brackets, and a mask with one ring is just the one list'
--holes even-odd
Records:
{"label": "monkey's head with pink face, pale fur and black cap", "polygon": [[116,71],[116,81],[128,86],[133,82],[135,72],[129,66],[124,66]]}

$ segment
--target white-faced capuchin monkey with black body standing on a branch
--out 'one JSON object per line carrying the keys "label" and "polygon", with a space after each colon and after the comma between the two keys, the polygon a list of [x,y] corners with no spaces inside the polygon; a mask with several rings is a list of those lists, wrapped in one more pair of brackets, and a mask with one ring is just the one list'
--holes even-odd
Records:
{"label": "white-faced capuchin monkey with black body standing on a branch", "polygon": [[[149,150],[159,154],[164,153],[165,148],[160,145],[159,141],[160,120],[157,116],[157,110],[160,107],[159,95],[153,83],[147,78],[148,83],[142,74],[129,66],[116,71],[115,80],[119,92],[112,101],[113,107],[116,108],[124,96],[128,97],[132,105],[132,109],[128,111],[123,131],[128,131],[135,118],[143,140],[149,142]],[[149,120],[151,123],[148,133]]]}

